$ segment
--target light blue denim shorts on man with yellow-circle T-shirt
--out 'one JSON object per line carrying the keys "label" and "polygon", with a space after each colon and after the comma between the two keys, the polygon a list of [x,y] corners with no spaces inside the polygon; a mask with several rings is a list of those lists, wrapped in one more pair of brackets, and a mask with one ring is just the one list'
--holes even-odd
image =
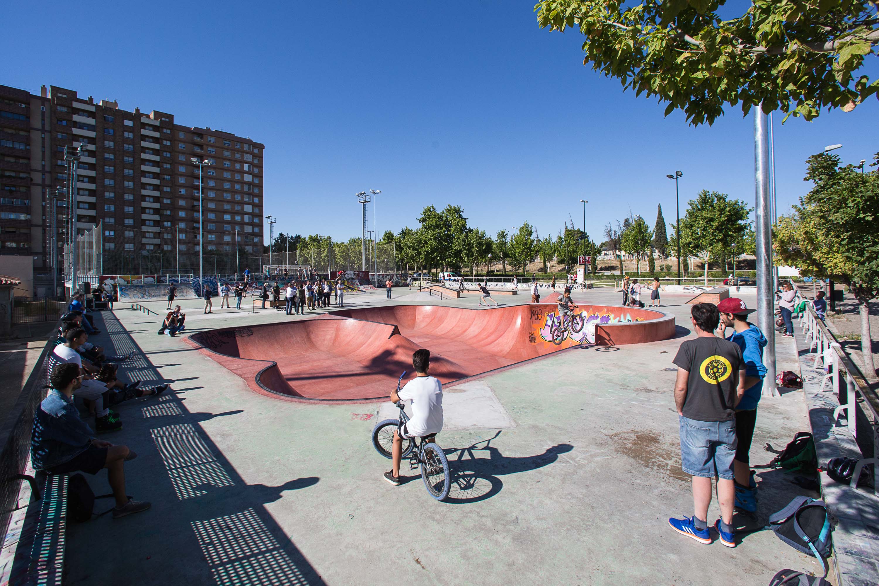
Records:
{"label": "light blue denim shorts on man with yellow-circle T-shirt", "polygon": [[736,457],[736,422],[696,421],[678,416],[681,469],[691,476],[731,481]]}

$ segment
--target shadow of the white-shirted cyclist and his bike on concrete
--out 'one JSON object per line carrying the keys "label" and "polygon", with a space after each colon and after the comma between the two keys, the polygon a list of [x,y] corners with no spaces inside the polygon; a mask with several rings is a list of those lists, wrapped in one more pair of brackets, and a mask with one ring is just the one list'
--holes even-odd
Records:
{"label": "shadow of the white-shirted cyclist and his bike on concrete", "polygon": [[[504,488],[498,475],[516,474],[536,470],[552,464],[559,454],[574,449],[570,444],[553,445],[541,454],[523,458],[507,458],[498,448],[490,445],[491,440],[498,438],[500,430],[492,438],[483,439],[466,448],[446,448],[449,473],[452,476],[452,488],[449,490],[445,503],[477,503],[497,495]],[[485,444],[484,446],[479,446]],[[488,452],[489,457],[477,457],[474,452]]]}

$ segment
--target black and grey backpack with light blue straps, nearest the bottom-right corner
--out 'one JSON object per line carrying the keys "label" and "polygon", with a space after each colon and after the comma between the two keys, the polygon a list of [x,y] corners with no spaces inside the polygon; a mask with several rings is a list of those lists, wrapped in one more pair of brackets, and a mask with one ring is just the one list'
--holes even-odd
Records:
{"label": "black and grey backpack with light blue straps, nearest the bottom-right corner", "polygon": [[831,555],[831,524],[827,505],[809,496],[797,496],[784,509],[769,516],[768,529],[795,550],[821,561]]}

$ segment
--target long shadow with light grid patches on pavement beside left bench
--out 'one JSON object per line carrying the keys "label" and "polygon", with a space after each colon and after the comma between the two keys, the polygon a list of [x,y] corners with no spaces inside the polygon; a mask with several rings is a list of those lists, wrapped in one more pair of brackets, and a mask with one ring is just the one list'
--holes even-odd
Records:
{"label": "long shadow with light grid patches on pavement beside left bench", "polygon": [[[133,380],[163,380],[115,315],[107,313],[101,321],[109,351],[136,353],[125,365]],[[140,457],[126,465],[127,491],[153,506],[133,517],[107,515],[69,525],[67,581],[114,584],[139,576],[136,582],[149,584],[323,585],[265,509],[285,491],[313,487],[320,479],[247,484],[200,425],[242,413],[190,412],[172,389],[124,403],[125,429],[107,439],[136,448]],[[104,474],[89,481],[96,492],[106,492]],[[96,543],[120,546],[104,548],[96,558]]]}

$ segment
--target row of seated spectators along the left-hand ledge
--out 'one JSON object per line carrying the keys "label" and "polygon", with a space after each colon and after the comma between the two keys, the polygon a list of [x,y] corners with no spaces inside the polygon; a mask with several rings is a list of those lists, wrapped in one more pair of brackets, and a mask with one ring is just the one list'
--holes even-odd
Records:
{"label": "row of seated spectators along the left-hand ledge", "polygon": [[[90,332],[101,332],[83,301],[79,294],[70,303],[47,360],[49,391],[34,414],[31,459],[34,469],[48,474],[98,474],[106,468],[116,501],[113,518],[125,517],[150,506],[126,493],[124,463],[137,454],[125,445],[98,439],[96,434],[122,429],[119,413],[113,409],[121,402],[163,394],[168,385],[141,387],[140,381],[122,382],[120,363],[133,353],[107,356],[101,346],[89,342]],[[94,416],[93,429],[80,414],[76,398],[88,416]]]}

